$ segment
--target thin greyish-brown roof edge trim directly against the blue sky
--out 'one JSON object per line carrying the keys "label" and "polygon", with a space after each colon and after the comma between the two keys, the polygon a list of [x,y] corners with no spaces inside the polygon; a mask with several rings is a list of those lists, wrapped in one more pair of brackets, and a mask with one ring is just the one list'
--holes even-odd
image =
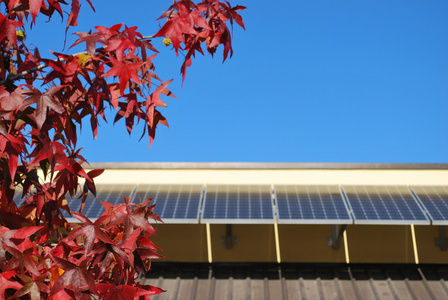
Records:
{"label": "thin greyish-brown roof edge trim directly against the blue sky", "polygon": [[448,170],[448,163],[97,162],[93,169],[367,169]]}

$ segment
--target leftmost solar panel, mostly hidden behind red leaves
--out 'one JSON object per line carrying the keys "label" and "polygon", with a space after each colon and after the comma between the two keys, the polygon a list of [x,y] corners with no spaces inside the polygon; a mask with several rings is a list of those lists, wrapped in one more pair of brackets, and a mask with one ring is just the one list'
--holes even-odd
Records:
{"label": "leftmost solar panel, mostly hidden behind red leaves", "polygon": [[[112,204],[124,203],[123,195],[129,198],[135,189],[135,185],[130,184],[97,184],[96,197],[89,193],[86,199],[86,205],[82,213],[91,221],[98,219],[104,212],[104,207],[100,201],[109,202]],[[68,205],[74,212],[79,212],[81,207],[81,200],[78,195],[74,199],[67,197]],[[133,199],[135,201],[135,199]],[[69,222],[79,222],[78,219],[70,217],[67,212],[63,211],[63,215]]]}

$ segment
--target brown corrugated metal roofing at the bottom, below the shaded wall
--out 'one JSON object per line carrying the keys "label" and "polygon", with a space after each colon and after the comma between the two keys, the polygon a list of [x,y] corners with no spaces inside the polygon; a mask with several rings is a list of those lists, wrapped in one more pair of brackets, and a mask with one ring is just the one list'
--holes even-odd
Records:
{"label": "brown corrugated metal roofing at the bottom, below the shaded wall", "polygon": [[448,299],[447,265],[154,265],[154,300]]}

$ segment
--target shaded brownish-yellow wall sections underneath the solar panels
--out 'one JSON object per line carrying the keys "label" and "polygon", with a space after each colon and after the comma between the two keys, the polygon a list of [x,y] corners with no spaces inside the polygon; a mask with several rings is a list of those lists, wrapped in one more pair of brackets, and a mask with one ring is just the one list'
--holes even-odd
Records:
{"label": "shaded brownish-yellow wall sections underneath the solar panels", "polygon": [[[281,262],[345,263],[345,247],[328,244],[332,225],[279,225]],[[415,263],[409,225],[349,225],[346,229],[351,263]],[[420,263],[448,263],[448,251],[435,246],[438,226],[415,226]],[[234,224],[236,244],[223,243],[225,224],[211,224],[213,262],[277,262],[274,225]],[[160,224],[153,238],[165,262],[208,262],[205,224]]]}

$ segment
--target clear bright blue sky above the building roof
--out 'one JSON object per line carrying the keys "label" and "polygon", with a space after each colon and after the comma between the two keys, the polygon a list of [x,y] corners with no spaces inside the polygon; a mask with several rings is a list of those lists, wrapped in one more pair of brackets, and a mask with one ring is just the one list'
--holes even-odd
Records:
{"label": "clear bright blue sky above the building roof", "polygon": [[[83,132],[88,161],[448,162],[448,1],[230,2],[248,7],[234,56],[198,57],[183,87],[181,58],[154,41],[178,97],[162,110],[170,128],[148,149],[110,117],[97,140]],[[151,35],[172,1],[82,3],[71,32],[124,22]],[[54,18],[29,34],[42,53],[62,49]]]}

